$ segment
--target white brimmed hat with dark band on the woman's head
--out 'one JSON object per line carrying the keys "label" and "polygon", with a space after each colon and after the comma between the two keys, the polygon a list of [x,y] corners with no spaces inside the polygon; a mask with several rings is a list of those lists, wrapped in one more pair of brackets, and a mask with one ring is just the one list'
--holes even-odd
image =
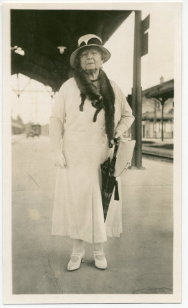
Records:
{"label": "white brimmed hat with dark band on the woman's head", "polygon": [[102,46],[102,39],[100,37],[97,37],[97,35],[94,34],[87,34],[82,37],[79,37],[78,39],[78,47],[75,51],[73,51],[70,63],[71,66],[75,69],[77,67],[77,64],[75,63],[75,58],[77,57],[77,54],[82,48],[86,48],[87,46],[98,46],[102,50],[102,58],[103,62],[106,62],[111,57],[111,53]]}

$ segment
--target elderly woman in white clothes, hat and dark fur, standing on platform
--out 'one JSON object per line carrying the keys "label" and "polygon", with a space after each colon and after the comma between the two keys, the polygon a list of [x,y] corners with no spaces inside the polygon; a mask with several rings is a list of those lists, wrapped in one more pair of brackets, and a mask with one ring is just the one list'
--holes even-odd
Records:
{"label": "elderly woman in white clothes, hat and dark fur, standing on platform", "polygon": [[121,89],[102,70],[111,55],[100,37],[84,35],[78,47],[70,60],[73,78],[59,90],[50,117],[58,166],[52,234],[73,239],[69,271],[83,262],[83,242],[93,243],[95,266],[106,269],[102,243],[122,233],[121,197],[112,197],[104,223],[100,164],[113,151],[113,138],[123,138],[134,120]]}

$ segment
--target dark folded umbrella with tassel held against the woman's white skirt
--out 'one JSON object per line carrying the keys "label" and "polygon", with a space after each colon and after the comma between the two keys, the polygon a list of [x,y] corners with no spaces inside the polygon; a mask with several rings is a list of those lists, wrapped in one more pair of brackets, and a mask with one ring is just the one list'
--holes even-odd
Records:
{"label": "dark folded umbrella with tassel held against the woman's white skirt", "polygon": [[113,158],[107,158],[101,166],[102,172],[102,206],[104,212],[104,221],[106,221],[106,215],[109,209],[109,204],[113,194],[113,189],[115,188],[114,199],[119,200],[118,194],[118,181],[116,180],[114,174],[116,155],[118,152],[118,143],[115,143],[115,148],[113,152]]}

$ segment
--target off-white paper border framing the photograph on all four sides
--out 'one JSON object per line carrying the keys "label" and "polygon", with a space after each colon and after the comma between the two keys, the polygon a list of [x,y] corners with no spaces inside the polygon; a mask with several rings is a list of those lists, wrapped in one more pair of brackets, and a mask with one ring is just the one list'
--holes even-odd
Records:
{"label": "off-white paper border framing the photograph on all four sides", "polygon": [[[83,1],[84,2],[84,1]],[[147,10],[153,6],[177,13],[174,71],[175,101],[181,102],[181,3],[74,3],[74,9]],[[71,9],[73,3],[5,3],[3,4],[3,303],[4,304],[55,304],[55,303],[178,303],[181,302],[181,109],[175,104],[174,118],[174,237],[173,237],[173,294],[42,294],[12,295],[11,256],[11,106],[10,102],[10,9]],[[6,269],[6,271],[5,271]]]}

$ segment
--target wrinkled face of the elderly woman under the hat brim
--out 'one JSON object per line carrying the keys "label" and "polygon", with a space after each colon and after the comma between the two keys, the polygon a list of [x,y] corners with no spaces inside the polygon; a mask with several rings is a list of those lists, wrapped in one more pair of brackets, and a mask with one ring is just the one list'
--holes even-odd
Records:
{"label": "wrinkled face of the elderly woman under the hat brim", "polygon": [[93,73],[100,71],[100,66],[102,66],[102,52],[97,47],[84,48],[79,55],[80,66],[84,71],[88,73]]}

